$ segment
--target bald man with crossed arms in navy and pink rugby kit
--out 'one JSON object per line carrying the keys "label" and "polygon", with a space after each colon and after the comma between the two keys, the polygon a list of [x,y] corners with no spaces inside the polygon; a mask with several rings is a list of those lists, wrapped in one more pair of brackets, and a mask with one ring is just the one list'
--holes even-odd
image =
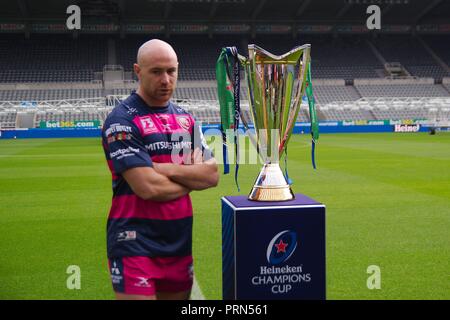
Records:
{"label": "bald man with crossed arms in navy and pink rugby kit", "polygon": [[150,40],[133,67],[139,87],[102,129],[113,189],[107,223],[112,285],[117,299],[189,299],[189,193],[217,185],[217,164],[198,123],[170,101],[178,77],[173,48]]}

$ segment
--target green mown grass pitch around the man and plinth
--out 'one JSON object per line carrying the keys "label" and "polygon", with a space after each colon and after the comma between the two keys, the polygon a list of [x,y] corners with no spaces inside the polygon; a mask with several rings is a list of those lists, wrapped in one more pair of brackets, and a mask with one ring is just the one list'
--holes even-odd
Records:
{"label": "green mown grass pitch around the man and plinth", "polygon": [[[323,134],[317,170],[309,155],[309,136],[293,136],[294,192],[327,206],[327,298],[450,299],[450,134]],[[240,194],[260,167],[241,165]],[[237,194],[233,174],[192,193],[207,299],[221,298],[220,197]],[[113,299],[110,199],[100,139],[0,140],[0,299]],[[79,290],[66,286],[70,265]],[[370,265],[381,289],[367,288]]]}

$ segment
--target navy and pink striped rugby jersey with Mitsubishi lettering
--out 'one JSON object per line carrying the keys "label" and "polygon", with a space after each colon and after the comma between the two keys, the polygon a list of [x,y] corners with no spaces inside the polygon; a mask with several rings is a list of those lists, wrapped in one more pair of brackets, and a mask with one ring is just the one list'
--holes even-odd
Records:
{"label": "navy and pink striped rugby jersey with Mitsubishi lettering", "polygon": [[113,188],[108,257],[190,255],[190,196],[167,202],[143,200],[121,174],[134,167],[152,167],[153,162],[183,164],[183,154],[194,147],[201,147],[206,159],[212,157],[195,119],[171,102],[167,107],[149,107],[132,93],[108,115],[102,140]]}

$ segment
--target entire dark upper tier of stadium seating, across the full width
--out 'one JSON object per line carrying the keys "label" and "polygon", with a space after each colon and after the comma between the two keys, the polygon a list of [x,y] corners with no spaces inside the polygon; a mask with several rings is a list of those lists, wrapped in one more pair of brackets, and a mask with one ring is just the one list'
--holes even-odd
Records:
{"label": "entire dark upper tier of stadium seating, across the full width", "polygon": [[[33,34],[25,39],[20,35],[3,34],[0,36],[0,82],[90,81],[95,78],[95,72],[101,72],[104,65],[111,63],[122,65],[126,72],[131,72],[137,49],[150,38],[130,35],[115,39],[82,35],[72,39],[67,35]],[[115,52],[111,54],[115,61],[108,61],[108,41],[115,43],[112,46]],[[230,36],[174,35],[169,41],[179,56],[180,80],[214,80],[214,67],[220,49],[234,45],[246,56],[245,44],[248,41],[274,54],[283,54],[299,44],[310,43],[314,78],[382,77],[384,67],[372,52],[371,42],[386,61],[400,61],[414,76],[440,79],[450,75],[414,37],[382,36],[371,39],[362,36],[302,35],[294,39],[292,36],[258,35],[248,40]],[[444,61],[450,60],[445,41],[434,38],[427,41]],[[11,47],[11,43],[14,46]],[[131,75],[136,80],[135,75]]]}

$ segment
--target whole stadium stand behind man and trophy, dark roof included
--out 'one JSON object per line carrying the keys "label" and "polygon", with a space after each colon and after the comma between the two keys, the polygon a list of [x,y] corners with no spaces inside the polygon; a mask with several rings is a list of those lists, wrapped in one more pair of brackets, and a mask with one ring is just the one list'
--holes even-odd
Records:
{"label": "whole stadium stand behind man and trophy, dark roof included", "polygon": [[[45,2],[52,6],[50,2]],[[90,0],[80,2],[80,6],[90,2],[95,2],[91,7],[97,8],[99,2]],[[220,5],[220,10],[217,10],[217,5],[199,2],[197,8],[208,7],[209,10],[204,11],[189,11],[191,9],[177,1],[165,8],[156,4],[157,1],[153,2],[147,5],[155,10],[148,12],[137,12],[139,9],[124,1],[121,7],[114,9],[116,11],[109,12],[112,9],[107,6],[101,9],[105,10],[104,14],[99,14],[100,11],[88,14],[83,21],[101,25],[100,29],[87,32],[52,32],[50,22],[49,29],[44,28],[46,31],[40,27],[37,31],[33,30],[35,20],[43,21],[42,25],[45,25],[49,18],[32,9],[29,17],[23,17],[28,19],[25,29],[20,32],[2,29],[0,126],[14,128],[23,110],[35,113],[36,127],[41,121],[102,121],[119,99],[137,87],[133,73],[137,49],[154,37],[170,42],[179,57],[179,83],[174,99],[204,122],[220,121],[215,84],[215,63],[220,49],[237,46],[241,54],[247,55],[249,43],[274,54],[286,53],[299,44],[312,45],[313,88],[320,120],[449,117],[450,36],[448,17],[445,16],[448,6],[442,1],[433,2],[429,8],[423,7],[427,9],[425,13],[412,6],[382,5],[387,9],[387,15],[386,11],[383,13],[383,23],[388,27],[392,23],[396,27],[392,32],[373,33],[358,26],[345,25],[348,21],[360,19],[357,12],[361,6],[350,2],[345,8],[327,5],[321,8],[320,14],[317,8],[322,0],[304,1],[300,7],[294,4],[295,1],[283,1],[281,7],[284,11],[277,7],[276,1],[271,0],[248,0],[240,4],[227,2]],[[230,9],[235,5],[240,5],[240,10]],[[8,10],[17,9],[13,7]],[[280,9],[275,15],[280,20],[277,22],[279,25],[274,27],[267,21],[275,17],[272,10],[275,7]],[[245,11],[244,8],[247,14],[251,13],[254,21],[248,29],[238,17]],[[186,15],[185,11],[189,14]],[[129,17],[131,13],[142,14],[139,15],[142,19],[136,18],[134,21],[130,18],[131,27],[137,31],[126,32],[128,29],[124,28],[123,32],[109,32],[108,28],[114,24],[112,17],[119,17],[122,21],[125,12]],[[209,13],[211,22],[202,32],[204,26],[200,21],[207,18],[205,12]],[[23,10],[16,13],[23,14]],[[307,16],[314,23],[308,25],[309,22],[305,22],[307,25],[302,29],[297,22],[283,25],[290,23],[286,21],[292,21],[293,13],[295,20]],[[439,25],[441,20],[437,17],[441,13],[442,23],[447,24]],[[322,15],[325,17],[323,21]],[[405,25],[398,25],[399,16]],[[148,21],[160,21],[161,17],[164,23],[159,27],[164,31],[158,31],[158,26],[151,29],[152,26],[146,25]],[[179,23],[180,19],[176,17],[191,21]],[[215,25],[213,21],[220,18],[230,21],[230,24]],[[439,21],[435,23],[434,19]],[[149,26],[150,30],[157,30],[158,33],[147,33],[145,27]],[[9,26],[0,25],[1,28]],[[398,66],[404,74],[397,75],[392,71]],[[248,108],[245,85],[243,79],[241,101],[244,112],[248,112],[245,109]],[[308,110],[304,107],[297,120],[308,119]]]}

